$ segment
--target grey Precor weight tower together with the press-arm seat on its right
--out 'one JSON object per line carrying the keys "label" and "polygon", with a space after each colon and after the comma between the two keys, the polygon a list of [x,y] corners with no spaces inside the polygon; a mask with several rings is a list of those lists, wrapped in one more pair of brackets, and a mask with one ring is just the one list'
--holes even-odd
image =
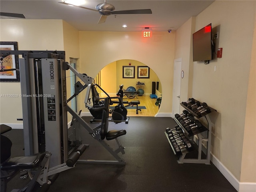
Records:
{"label": "grey Precor weight tower together with the press-arm seat on its right", "polygon": [[[76,124],[79,122],[117,159],[115,162],[106,161],[106,163],[125,164],[117,153],[124,154],[124,147],[120,144],[118,137],[126,134],[126,131],[108,131],[107,120],[103,120],[105,123],[92,129],[79,114],[67,105],[72,98],[92,84],[92,78],[78,73],[68,62],[65,62],[64,51],[1,51],[3,58],[10,54],[23,57],[19,59],[19,64],[25,156],[49,151],[52,153],[50,168],[65,164],[72,153],[72,150],[68,149],[67,135],[67,112],[70,112]],[[72,70],[84,83],[82,85],[78,81],[75,84],[75,94],[69,99],[66,97],[66,70]],[[89,88],[86,97],[88,92],[90,92]],[[106,109],[108,107],[106,104],[103,109],[108,110]],[[106,144],[104,138],[115,139],[118,149],[113,150]],[[98,161],[100,162],[105,161]],[[60,170],[59,167],[58,170]]]}

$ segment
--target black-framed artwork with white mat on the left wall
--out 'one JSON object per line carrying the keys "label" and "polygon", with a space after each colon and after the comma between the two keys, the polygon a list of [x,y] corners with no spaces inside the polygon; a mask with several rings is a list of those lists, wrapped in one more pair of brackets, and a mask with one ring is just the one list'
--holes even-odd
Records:
{"label": "black-framed artwork with white mat on the left wall", "polygon": [[[0,42],[0,52],[2,50],[18,50],[18,42]],[[18,55],[8,55],[1,58],[0,82],[20,82]],[[18,69],[4,71],[8,69]]]}

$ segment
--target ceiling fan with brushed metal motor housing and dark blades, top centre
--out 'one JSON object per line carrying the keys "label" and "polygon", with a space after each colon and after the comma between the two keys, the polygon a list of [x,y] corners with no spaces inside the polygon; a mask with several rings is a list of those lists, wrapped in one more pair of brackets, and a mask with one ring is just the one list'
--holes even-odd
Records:
{"label": "ceiling fan with brushed metal motor housing and dark blades, top centre", "polygon": [[65,2],[59,2],[59,3],[99,12],[101,14],[101,16],[100,16],[100,20],[98,21],[98,24],[104,23],[107,19],[107,16],[109,16],[111,14],[115,14],[115,15],[117,15],[117,14],[152,14],[151,9],[135,9],[135,10],[115,11],[114,5],[107,3],[106,0],[104,1],[104,3],[100,3],[100,4],[96,5],[96,7],[95,7],[96,9],[90,9],[90,8],[77,6],[77,5],[73,5],[73,4],[69,4],[69,3],[65,3]]}

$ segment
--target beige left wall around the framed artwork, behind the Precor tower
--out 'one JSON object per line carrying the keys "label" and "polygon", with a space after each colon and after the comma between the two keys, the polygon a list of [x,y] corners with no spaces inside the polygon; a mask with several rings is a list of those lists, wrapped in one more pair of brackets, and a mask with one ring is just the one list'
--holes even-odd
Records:
{"label": "beige left wall around the framed artwork, behind the Precor tower", "polygon": [[[62,20],[2,19],[0,40],[18,42],[18,50],[64,50]],[[19,82],[1,82],[0,94],[21,94]],[[0,98],[1,124],[20,124],[21,97]]]}

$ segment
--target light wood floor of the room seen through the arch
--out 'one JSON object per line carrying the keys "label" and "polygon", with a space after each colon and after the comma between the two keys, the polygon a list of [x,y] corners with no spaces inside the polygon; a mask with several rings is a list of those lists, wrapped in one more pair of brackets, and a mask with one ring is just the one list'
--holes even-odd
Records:
{"label": "light wood floor of the room seen through the arch", "polygon": [[158,106],[155,105],[156,99],[150,98],[149,95],[143,95],[143,96],[137,96],[137,98],[127,98],[124,96],[123,100],[125,101],[132,101],[132,100],[139,100],[140,104],[139,106],[145,106],[146,109],[142,109],[141,111],[138,111],[138,114],[136,114],[136,109],[127,109],[127,116],[146,116],[146,117],[154,117],[155,114],[158,112]]}

